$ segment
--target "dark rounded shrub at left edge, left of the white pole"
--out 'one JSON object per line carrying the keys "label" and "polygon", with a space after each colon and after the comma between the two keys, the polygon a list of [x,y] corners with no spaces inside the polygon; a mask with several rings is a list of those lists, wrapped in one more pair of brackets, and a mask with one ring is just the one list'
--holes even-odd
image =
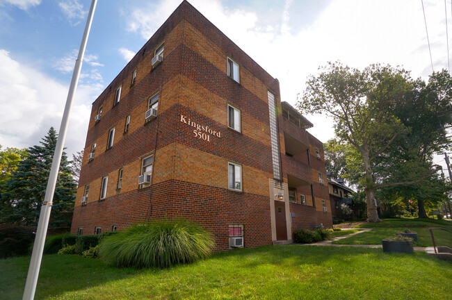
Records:
{"label": "dark rounded shrub at left edge, left of the white pole", "polygon": [[30,226],[0,224],[0,258],[28,254],[35,239],[34,230]]}

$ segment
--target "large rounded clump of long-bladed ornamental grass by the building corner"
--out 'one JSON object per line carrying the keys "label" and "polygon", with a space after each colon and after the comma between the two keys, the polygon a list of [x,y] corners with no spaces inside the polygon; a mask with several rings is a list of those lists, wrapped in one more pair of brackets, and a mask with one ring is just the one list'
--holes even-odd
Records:
{"label": "large rounded clump of long-bladed ornamental grass by the building corner", "polygon": [[183,220],[136,224],[99,244],[99,258],[116,267],[170,267],[209,256],[213,236]]}

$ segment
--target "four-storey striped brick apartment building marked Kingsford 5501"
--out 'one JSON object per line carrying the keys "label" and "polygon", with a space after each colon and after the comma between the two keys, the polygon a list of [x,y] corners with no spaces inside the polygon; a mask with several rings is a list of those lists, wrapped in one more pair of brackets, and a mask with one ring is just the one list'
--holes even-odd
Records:
{"label": "four-storey striped brick apartment building marked Kingsford 5501", "polygon": [[184,1],[92,103],[72,233],[184,217],[226,250],[234,236],[256,247],[332,226],[311,126]]}

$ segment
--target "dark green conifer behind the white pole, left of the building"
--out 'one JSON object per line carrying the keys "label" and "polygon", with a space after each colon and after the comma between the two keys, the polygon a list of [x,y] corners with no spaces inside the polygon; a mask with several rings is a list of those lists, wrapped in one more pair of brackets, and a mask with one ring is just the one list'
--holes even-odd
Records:
{"label": "dark green conifer behind the white pole, left of the building", "polygon": [[[27,149],[28,156],[19,162],[3,185],[0,203],[0,222],[32,225],[38,223],[44,200],[57,134],[54,128],[40,142]],[[63,152],[51,211],[51,226],[69,226],[74,206],[76,185],[72,170]]]}

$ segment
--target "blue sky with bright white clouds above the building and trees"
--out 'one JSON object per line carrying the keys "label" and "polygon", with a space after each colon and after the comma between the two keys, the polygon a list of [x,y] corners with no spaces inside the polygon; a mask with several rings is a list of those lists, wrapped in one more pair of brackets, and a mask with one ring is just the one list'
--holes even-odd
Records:
{"label": "blue sky with bright white clouds above the building and trees", "polygon": [[[432,71],[421,1],[189,2],[278,78],[282,101],[292,104],[307,76],[329,60],[358,68],[403,65],[413,77],[427,78]],[[91,103],[179,3],[98,1],[68,128],[68,153],[84,147]],[[447,68],[444,1],[423,3],[434,68]],[[451,31],[451,0],[446,5]],[[0,0],[3,147],[30,147],[50,126],[60,126],[89,6],[89,0]],[[329,119],[307,117],[314,123],[312,134],[323,142],[332,138]]]}

